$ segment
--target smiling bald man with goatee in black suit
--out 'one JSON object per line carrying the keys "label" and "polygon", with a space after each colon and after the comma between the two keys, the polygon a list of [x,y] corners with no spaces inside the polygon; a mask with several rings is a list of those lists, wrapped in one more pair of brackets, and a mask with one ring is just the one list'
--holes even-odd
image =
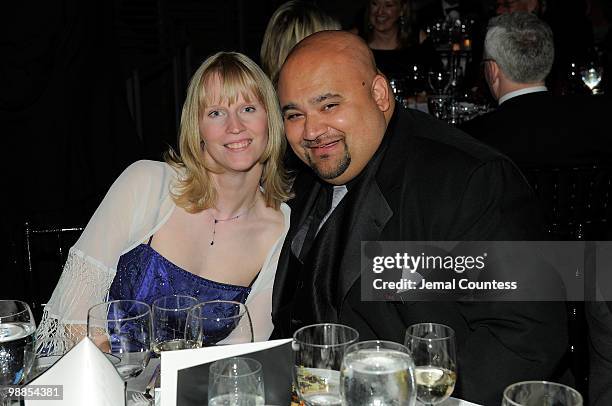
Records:
{"label": "smiling bald man with goatee in black suit", "polygon": [[361,300],[361,241],[533,239],[530,189],[514,165],[396,106],[367,45],[347,32],[299,43],[278,94],[287,139],[311,170],[294,183],[274,336],[337,322],[356,328],[360,340],[403,342],[409,325],[438,322],[456,332],[454,396],[499,404],[510,383],[551,379],[567,343],[562,305]]}

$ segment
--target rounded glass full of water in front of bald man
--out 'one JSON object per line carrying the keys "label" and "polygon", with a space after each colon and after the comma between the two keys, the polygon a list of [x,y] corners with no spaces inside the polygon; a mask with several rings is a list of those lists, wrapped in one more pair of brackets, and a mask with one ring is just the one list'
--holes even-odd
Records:
{"label": "rounded glass full of water in front of bald man", "polygon": [[340,373],[343,405],[414,406],[414,362],[391,341],[364,341],[346,349]]}

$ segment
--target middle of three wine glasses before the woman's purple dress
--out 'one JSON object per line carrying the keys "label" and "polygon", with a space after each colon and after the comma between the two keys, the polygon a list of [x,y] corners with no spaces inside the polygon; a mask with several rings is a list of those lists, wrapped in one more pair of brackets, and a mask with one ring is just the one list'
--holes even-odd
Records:
{"label": "middle of three wine glasses before the woman's purple dress", "polygon": [[189,309],[198,299],[187,295],[163,296],[153,302],[153,351],[194,348],[195,343],[185,340],[185,326]]}

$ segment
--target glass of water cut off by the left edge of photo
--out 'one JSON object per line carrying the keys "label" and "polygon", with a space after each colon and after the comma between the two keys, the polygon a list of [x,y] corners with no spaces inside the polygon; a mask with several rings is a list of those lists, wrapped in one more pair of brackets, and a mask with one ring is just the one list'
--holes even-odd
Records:
{"label": "glass of water cut off by the left edge of photo", "polygon": [[0,300],[0,404],[7,385],[19,385],[32,366],[36,324],[27,303]]}

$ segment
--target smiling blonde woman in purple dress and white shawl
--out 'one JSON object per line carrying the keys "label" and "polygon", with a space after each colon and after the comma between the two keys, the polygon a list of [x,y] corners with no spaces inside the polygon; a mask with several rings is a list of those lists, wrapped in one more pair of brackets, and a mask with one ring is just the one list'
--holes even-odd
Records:
{"label": "smiling blonde woman in purple dress and white shawl", "polygon": [[115,181],[71,248],[38,336],[79,338],[100,302],[168,294],[246,303],[255,340],[272,332],[272,286],[289,228],[283,124],[263,71],[209,57],[183,106],[179,151]]}

